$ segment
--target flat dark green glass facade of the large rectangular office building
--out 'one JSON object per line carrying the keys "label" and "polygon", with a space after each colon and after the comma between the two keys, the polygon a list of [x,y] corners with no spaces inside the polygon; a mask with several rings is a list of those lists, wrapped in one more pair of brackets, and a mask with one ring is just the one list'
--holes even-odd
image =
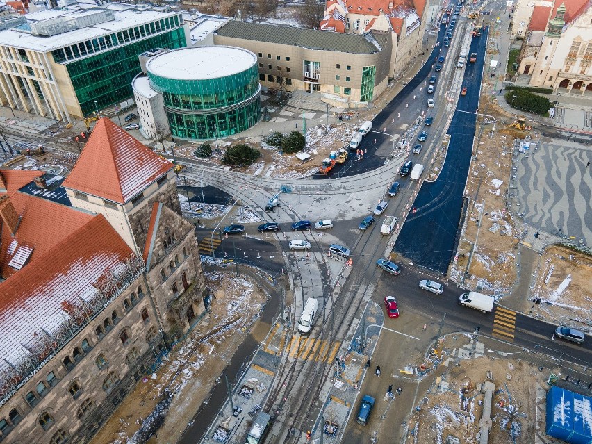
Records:
{"label": "flat dark green glass facade of the large rectangular office building", "polygon": [[179,49],[186,47],[183,28],[154,35],[129,44],[115,46],[96,56],[67,63],[68,74],[82,114],[88,115],[96,107],[106,108],[131,97],[131,81],[140,72],[138,56],[152,48]]}

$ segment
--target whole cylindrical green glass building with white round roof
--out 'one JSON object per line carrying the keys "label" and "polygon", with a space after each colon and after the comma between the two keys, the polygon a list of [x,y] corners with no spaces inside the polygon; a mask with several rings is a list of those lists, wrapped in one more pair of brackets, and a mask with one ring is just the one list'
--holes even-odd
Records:
{"label": "whole cylindrical green glass building with white round roof", "polygon": [[150,86],[163,94],[171,133],[213,139],[245,131],[261,117],[255,54],[234,47],[176,49],[146,65]]}

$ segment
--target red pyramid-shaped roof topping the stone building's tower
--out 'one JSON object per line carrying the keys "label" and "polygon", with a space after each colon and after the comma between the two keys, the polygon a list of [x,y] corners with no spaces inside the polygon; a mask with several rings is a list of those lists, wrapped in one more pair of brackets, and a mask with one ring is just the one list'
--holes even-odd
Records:
{"label": "red pyramid-shaped roof topping the stone building's tower", "polygon": [[62,186],[124,204],[173,164],[102,117]]}

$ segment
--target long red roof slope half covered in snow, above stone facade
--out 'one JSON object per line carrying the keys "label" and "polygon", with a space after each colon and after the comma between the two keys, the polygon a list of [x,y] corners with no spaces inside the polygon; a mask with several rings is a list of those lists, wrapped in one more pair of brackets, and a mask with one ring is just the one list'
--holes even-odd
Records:
{"label": "long red roof slope half covered in snow, above stone facade", "polygon": [[[56,204],[51,205],[55,211]],[[66,210],[62,207],[56,213],[72,217]],[[62,222],[68,220],[63,217]],[[51,237],[42,220],[37,222],[38,231]],[[94,284],[109,270],[121,272],[131,257],[131,249],[103,215],[68,232],[51,250],[36,256],[26,270],[0,284],[0,352],[8,362],[22,359],[27,354],[23,344],[32,342],[34,336],[60,328],[68,318],[65,304],[88,301],[97,291]]]}

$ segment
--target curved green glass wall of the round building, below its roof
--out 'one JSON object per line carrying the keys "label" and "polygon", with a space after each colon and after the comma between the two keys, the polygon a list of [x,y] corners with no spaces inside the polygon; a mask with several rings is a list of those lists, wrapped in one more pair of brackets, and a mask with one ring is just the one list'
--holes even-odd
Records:
{"label": "curved green glass wall of the round building, below its roof", "polygon": [[150,85],[163,93],[172,135],[213,139],[245,131],[261,118],[258,67],[216,79],[179,80],[156,76]]}

